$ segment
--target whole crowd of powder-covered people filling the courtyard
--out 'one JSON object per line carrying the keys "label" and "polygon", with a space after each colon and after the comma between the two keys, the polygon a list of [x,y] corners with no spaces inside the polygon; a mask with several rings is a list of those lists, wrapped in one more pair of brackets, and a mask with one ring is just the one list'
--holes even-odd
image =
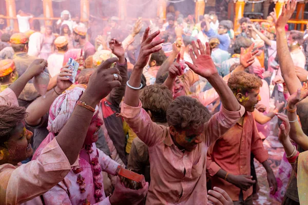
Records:
{"label": "whole crowd of powder-covered people filling the courtyard", "polygon": [[[288,31],[295,9],[240,31],[179,12],[95,30],[66,10],[44,32],[1,30],[0,204],[253,204],[255,159],[272,198],[306,204],[308,27]],[[278,173],[263,146],[274,117]],[[145,185],[127,188],[119,167]]]}

